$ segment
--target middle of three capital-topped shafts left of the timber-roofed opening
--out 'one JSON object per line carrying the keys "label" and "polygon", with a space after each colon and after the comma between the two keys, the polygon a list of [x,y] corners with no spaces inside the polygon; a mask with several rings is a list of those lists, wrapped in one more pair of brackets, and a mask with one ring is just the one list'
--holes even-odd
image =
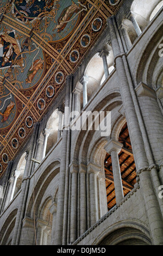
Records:
{"label": "middle of three capital-topped shafts left of the timber-roofed opening", "polygon": [[86,166],[84,164],[79,165],[80,174],[80,230],[82,235],[86,231]]}

